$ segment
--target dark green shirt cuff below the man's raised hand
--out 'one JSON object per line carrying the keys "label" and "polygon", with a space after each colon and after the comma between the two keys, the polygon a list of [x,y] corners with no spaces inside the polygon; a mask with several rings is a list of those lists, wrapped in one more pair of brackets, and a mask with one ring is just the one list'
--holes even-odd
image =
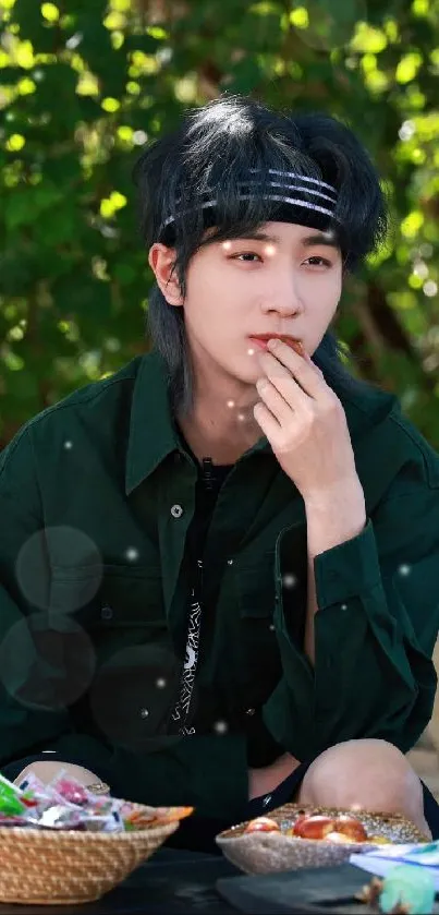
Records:
{"label": "dark green shirt cuff below the man's raised hand", "polygon": [[352,540],[316,556],[314,575],[319,610],[375,588],[381,573],[371,521]]}

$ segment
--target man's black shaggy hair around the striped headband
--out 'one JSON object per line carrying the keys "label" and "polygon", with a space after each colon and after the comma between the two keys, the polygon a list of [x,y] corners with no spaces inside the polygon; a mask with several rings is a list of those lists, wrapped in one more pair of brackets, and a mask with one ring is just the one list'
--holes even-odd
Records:
{"label": "man's black shaggy hair around the striped headband", "polygon": [[[257,170],[259,189],[242,200],[240,188],[249,169]],[[368,153],[350,128],[321,112],[292,115],[246,96],[222,96],[186,111],[176,130],[146,146],[133,171],[145,245],[162,241],[175,249],[183,296],[187,266],[203,245],[245,238],[276,221],[279,204],[265,192],[272,169],[336,189],[333,218],[320,219],[318,228],[336,232],[345,270],[358,268],[385,240],[385,194]],[[200,205],[212,195],[215,218]],[[209,226],[215,228],[207,238]],[[184,414],[193,404],[184,308],[169,305],[157,285],[149,297],[148,329],[167,362],[174,412]],[[351,388],[365,385],[344,366],[347,353],[330,330],[313,358],[333,382]]]}

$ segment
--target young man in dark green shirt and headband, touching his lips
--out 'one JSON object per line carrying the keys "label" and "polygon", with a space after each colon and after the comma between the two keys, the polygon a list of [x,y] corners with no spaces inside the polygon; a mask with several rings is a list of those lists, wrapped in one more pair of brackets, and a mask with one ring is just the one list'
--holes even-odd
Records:
{"label": "young man in dark green shirt and headband, touching his lips", "polygon": [[187,844],[293,797],[439,835],[405,757],[439,458],[329,330],[386,233],[375,169],[329,117],[225,97],[135,177],[154,349],[1,458],[2,771],[194,805]]}

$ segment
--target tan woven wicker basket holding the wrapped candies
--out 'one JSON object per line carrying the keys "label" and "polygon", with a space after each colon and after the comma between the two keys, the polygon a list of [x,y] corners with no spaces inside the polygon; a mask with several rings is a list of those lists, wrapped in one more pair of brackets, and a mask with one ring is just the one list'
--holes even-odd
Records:
{"label": "tan woven wicker basket holding the wrapped candies", "polygon": [[0,828],[0,902],[93,902],[147,860],[179,824],[113,833]]}

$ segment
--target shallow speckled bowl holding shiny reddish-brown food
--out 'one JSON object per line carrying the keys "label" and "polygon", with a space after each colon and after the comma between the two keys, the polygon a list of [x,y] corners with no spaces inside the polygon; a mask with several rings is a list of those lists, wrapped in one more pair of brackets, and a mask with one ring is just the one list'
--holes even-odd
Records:
{"label": "shallow speckled bowl holding shiny reddish-brown food", "polygon": [[[333,807],[310,808],[298,804],[285,804],[277,810],[270,810],[266,816],[276,820],[281,830],[286,830],[294,826],[298,814],[302,812],[326,814],[330,817],[340,814],[353,815],[352,810]],[[398,843],[428,841],[426,835],[402,816],[355,810],[355,817],[363,823],[368,835],[382,835]],[[349,860],[353,854],[382,847],[373,842],[346,842],[336,845],[325,840],[298,839],[282,832],[245,833],[247,822],[233,826],[216,838],[225,857],[246,874],[297,870],[301,867],[330,867]]]}

